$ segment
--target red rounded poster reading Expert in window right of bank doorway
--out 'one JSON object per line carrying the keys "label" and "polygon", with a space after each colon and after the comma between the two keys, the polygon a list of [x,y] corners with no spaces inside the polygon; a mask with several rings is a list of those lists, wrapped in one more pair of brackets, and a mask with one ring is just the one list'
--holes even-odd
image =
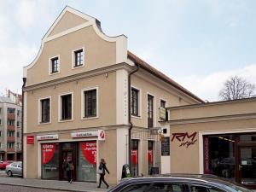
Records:
{"label": "red rounded poster reading Expert in window right of bank doorway", "polygon": [[88,160],[90,164],[96,164],[96,141],[81,142],[80,146],[84,155],[84,159]]}

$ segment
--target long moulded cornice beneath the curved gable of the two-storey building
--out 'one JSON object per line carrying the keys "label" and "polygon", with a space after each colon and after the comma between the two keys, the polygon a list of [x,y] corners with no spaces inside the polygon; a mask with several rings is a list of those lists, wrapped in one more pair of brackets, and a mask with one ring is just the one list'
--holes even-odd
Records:
{"label": "long moulded cornice beneath the curved gable of the two-storey building", "polygon": [[97,75],[101,75],[104,73],[112,73],[115,72],[119,69],[125,69],[127,71],[131,71],[131,66],[126,64],[126,63],[118,63],[112,66],[108,66],[108,67],[102,67],[102,68],[98,68],[95,70],[91,70],[89,72],[84,72],[84,73],[77,73],[74,75],[70,75],[64,78],[60,78],[60,79],[54,79],[54,80],[50,80],[50,81],[46,81],[46,82],[42,82],[39,84],[32,84],[29,86],[26,86],[24,88],[24,91],[31,91],[31,90],[39,90],[39,89],[44,89],[47,87],[51,87],[51,86],[55,86],[58,84],[63,84],[63,83],[69,83],[69,82],[73,82],[73,81],[79,81],[80,79],[87,79],[87,78],[91,78]]}

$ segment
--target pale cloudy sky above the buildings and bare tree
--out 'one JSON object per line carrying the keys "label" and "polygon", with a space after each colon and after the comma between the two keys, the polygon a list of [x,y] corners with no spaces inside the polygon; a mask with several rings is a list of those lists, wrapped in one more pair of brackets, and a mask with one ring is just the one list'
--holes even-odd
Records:
{"label": "pale cloudy sky above the buildings and bare tree", "polygon": [[210,102],[232,75],[256,84],[254,0],[0,0],[0,95],[21,92],[22,67],[66,5],[125,34],[128,49]]}

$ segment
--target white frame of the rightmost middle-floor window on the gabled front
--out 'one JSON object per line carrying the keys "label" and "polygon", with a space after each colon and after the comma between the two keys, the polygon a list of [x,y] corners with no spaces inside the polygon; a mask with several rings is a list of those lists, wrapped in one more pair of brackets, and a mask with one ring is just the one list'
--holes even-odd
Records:
{"label": "white frame of the rightmost middle-floor window on the gabled front", "polygon": [[[96,90],[96,116],[95,117],[84,117],[84,91]],[[96,119],[99,118],[99,86],[87,87],[81,90],[81,119]]]}

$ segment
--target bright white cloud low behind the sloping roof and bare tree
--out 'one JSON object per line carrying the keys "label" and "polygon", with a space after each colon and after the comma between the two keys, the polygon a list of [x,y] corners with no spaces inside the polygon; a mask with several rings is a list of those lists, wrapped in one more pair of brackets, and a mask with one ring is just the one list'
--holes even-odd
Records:
{"label": "bright white cloud low behind the sloping roof and bare tree", "polygon": [[201,99],[209,102],[218,101],[218,92],[222,89],[224,82],[231,76],[238,75],[248,82],[256,84],[256,64],[238,68],[230,71],[212,73],[207,76],[187,76],[179,77],[175,80],[182,84]]}

